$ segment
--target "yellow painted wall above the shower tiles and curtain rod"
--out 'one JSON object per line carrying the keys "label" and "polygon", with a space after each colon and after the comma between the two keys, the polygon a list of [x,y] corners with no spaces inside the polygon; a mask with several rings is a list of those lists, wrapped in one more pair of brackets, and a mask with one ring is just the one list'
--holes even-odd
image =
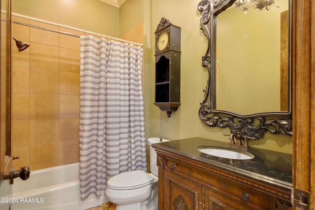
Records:
{"label": "yellow painted wall above the shower tiles and curtain rod", "polygon": [[12,12],[119,37],[119,8],[100,0],[12,0]]}

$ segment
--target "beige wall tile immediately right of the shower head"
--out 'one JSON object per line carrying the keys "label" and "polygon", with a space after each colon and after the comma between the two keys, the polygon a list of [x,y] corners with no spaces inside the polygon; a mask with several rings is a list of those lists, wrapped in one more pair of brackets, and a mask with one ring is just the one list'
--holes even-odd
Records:
{"label": "beige wall tile immediately right of the shower head", "polygon": [[31,45],[30,67],[59,70],[59,47],[34,42]]}

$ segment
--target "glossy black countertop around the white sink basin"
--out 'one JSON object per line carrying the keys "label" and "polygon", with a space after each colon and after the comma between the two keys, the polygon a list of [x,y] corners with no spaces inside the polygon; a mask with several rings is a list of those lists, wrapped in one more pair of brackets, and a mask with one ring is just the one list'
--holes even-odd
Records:
{"label": "glossy black countertop around the white sink basin", "polygon": [[292,187],[292,154],[250,148],[247,151],[252,153],[254,158],[237,160],[205,154],[197,150],[200,146],[228,147],[228,142],[196,137],[157,143],[153,145],[153,148],[179,154],[217,167],[228,168],[231,171],[250,176],[254,179]]}

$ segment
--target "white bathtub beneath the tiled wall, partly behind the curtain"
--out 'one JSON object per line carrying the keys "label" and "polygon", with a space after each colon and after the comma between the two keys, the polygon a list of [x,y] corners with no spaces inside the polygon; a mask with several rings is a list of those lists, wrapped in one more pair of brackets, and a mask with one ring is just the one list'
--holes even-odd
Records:
{"label": "white bathtub beneath the tiled wall, partly behind the curtain", "polygon": [[86,210],[108,202],[104,193],[81,201],[79,163],[40,169],[29,180],[14,180],[12,198],[18,203],[11,210]]}

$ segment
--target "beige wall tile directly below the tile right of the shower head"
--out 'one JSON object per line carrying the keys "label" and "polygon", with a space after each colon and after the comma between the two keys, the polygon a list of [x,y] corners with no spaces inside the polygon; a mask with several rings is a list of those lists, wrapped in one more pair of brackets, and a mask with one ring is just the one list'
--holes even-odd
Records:
{"label": "beige wall tile directly below the tile right of the shower head", "polygon": [[59,94],[59,71],[31,68],[30,92]]}

